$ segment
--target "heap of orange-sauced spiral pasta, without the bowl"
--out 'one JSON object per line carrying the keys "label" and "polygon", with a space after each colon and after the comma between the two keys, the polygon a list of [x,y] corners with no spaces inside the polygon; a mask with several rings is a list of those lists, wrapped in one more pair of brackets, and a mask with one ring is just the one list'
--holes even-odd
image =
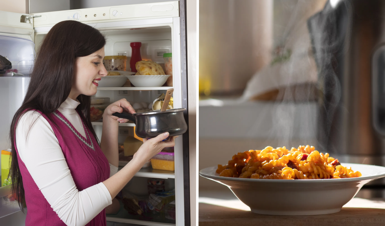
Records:
{"label": "heap of orange-sauced spiral pasta, without the bowl", "polygon": [[251,179],[335,179],[360,177],[359,171],[341,166],[328,153],[313,146],[286,149],[268,146],[263,150],[239,152],[228,162],[218,165],[219,176]]}

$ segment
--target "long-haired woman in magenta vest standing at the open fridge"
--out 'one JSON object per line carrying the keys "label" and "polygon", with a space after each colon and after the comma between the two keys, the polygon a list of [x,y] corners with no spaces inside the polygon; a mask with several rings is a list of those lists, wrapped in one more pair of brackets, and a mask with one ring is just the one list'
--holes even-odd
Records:
{"label": "long-haired woman in magenta vest standing at the open fridge", "polygon": [[105,225],[112,199],[152,156],[174,146],[163,133],[118,166],[114,112],[135,113],[126,99],[103,114],[99,142],[90,121],[90,96],[107,75],[104,36],[76,21],[57,23],[44,38],[22,106],[10,128],[13,193],[28,208],[25,225]]}

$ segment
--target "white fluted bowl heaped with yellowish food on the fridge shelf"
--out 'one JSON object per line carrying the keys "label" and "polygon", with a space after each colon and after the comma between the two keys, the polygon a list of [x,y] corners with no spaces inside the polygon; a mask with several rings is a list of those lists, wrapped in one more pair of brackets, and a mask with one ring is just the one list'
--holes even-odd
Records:
{"label": "white fluted bowl heaped with yellowish food on the fridge shelf", "polygon": [[151,60],[137,61],[135,64],[137,73],[135,75],[127,75],[132,85],[136,87],[156,87],[166,83],[167,78],[163,68],[156,62]]}

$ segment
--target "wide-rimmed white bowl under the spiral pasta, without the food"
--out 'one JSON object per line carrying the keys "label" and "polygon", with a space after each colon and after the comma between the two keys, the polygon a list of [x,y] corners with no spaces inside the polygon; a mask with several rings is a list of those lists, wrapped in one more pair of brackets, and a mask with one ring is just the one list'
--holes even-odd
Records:
{"label": "wide-rimmed white bowl under the spiral pasta, without the food", "polygon": [[362,186],[385,176],[385,167],[341,163],[360,171],[361,177],[341,179],[247,179],[228,178],[216,173],[216,166],[199,175],[224,184],[251,212],[266,215],[303,216],[337,213]]}

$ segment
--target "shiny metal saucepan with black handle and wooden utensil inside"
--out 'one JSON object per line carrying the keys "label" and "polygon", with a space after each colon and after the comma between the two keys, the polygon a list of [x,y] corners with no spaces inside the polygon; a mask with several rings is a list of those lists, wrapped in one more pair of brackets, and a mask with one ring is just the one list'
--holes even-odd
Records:
{"label": "shiny metal saucepan with black handle and wooden utensil inside", "polygon": [[186,108],[167,109],[170,97],[174,89],[166,92],[162,109],[141,113],[113,113],[119,118],[125,118],[135,123],[136,135],[141,138],[153,138],[161,133],[169,132],[170,136],[177,136],[187,131],[187,123],[184,120],[183,111]]}

